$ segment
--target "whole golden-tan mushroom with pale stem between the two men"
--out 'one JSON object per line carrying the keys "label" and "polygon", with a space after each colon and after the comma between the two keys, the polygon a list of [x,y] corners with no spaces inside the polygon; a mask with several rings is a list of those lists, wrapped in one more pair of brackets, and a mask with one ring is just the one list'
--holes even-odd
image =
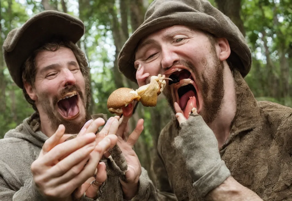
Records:
{"label": "whole golden-tan mushroom with pale stem between the two men", "polygon": [[158,74],[158,76],[150,78],[149,84],[143,85],[136,90],[129,88],[115,90],[107,99],[107,109],[110,113],[121,116],[122,114],[124,115],[123,111],[125,108],[133,103],[134,100],[140,101],[145,107],[156,106],[157,97],[166,85],[165,79],[172,81],[172,79],[165,77],[165,75],[161,76],[161,74]]}

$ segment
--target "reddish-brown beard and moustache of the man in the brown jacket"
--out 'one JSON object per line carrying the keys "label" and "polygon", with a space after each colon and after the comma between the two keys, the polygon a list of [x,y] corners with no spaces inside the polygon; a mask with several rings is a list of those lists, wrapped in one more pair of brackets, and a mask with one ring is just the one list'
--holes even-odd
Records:
{"label": "reddish-brown beard and moustache of the man in the brown jacket", "polygon": [[[195,83],[197,84],[198,88],[200,89],[201,96],[203,99],[203,108],[201,109],[200,115],[204,119],[206,123],[211,123],[215,120],[215,118],[219,115],[221,106],[223,104],[223,97],[224,97],[224,82],[223,82],[223,73],[224,73],[224,65],[223,62],[219,60],[215,47],[212,48],[211,54],[213,55],[213,62],[214,62],[214,69],[215,71],[210,74],[212,77],[207,78],[205,72],[202,72],[199,75],[197,69],[194,65],[188,60],[179,60],[175,62],[173,65],[184,65],[188,69],[190,69],[196,76]],[[203,58],[199,63],[202,69],[209,69],[208,68],[208,61],[206,58]],[[166,89],[163,91],[168,104],[170,105],[171,109],[174,113],[175,109],[173,106],[173,98],[171,95],[170,86],[166,85]],[[196,97],[198,98],[198,97]]]}

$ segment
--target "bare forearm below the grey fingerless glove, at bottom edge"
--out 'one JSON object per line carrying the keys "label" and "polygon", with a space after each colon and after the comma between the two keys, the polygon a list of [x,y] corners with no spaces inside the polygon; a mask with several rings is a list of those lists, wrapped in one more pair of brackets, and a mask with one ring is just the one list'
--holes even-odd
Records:
{"label": "bare forearm below the grey fingerless glove, at bottom edge", "polygon": [[262,201],[255,192],[242,186],[232,176],[211,190],[205,199],[210,201]]}

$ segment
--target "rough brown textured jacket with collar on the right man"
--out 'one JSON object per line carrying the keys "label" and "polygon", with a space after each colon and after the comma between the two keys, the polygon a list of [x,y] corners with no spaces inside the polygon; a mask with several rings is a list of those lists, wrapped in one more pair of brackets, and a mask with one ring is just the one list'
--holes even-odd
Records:
{"label": "rough brown textured jacket with collar on the right man", "polygon": [[[258,102],[237,71],[234,77],[237,112],[230,136],[219,150],[221,158],[234,179],[263,200],[292,200],[292,109]],[[174,146],[177,135],[173,119],[159,136],[161,160],[153,167],[155,183],[161,191],[174,193],[178,200],[203,200],[197,196],[183,157]]]}

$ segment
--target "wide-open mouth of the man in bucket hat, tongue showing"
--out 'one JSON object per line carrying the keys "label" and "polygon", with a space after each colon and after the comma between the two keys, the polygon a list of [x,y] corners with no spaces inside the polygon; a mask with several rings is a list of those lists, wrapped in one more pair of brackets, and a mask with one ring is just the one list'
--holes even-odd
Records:
{"label": "wide-open mouth of the man in bucket hat, tongue showing", "polygon": [[188,118],[192,108],[196,108],[199,113],[198,88],[192,73],[183,68],[173,68],[168,72],[170,72],[169,78],[173,79],[168,81],[173,100],[183,110],[184,116]]}

